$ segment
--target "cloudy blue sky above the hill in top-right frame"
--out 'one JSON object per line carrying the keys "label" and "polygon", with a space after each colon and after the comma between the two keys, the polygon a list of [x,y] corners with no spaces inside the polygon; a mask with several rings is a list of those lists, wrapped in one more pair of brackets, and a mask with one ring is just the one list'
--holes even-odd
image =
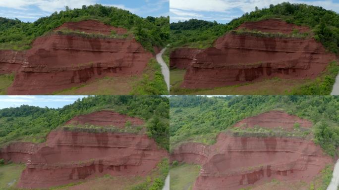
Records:
{"label": "cloudy blue sky above the hill in top-right frame", "polygon": [[255,6],[260,9],[267,8],[270,4],[284,1],[322,6],[325,9],[339,12],[339,0],[170,0],[169,17],[170,22],[196,18],[228,23],[245,12],[253,11]]}

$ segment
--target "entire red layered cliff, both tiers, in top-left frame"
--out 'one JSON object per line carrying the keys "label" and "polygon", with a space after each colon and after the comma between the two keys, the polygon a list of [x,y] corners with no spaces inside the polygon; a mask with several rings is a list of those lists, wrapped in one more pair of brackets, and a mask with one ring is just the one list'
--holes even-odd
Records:
{"label": "entire red layered cliff, both tiers, in top-left frame", "polygon": [[[60,28],[126,32],[93,20],[66,23]],[[51,94],[105,76],[140,75],[152,56],[135,39],[53,34],[37,38],[26,51],[0,51],[0,72],[17,71],[15,66],[22,65],[8,94]]]}

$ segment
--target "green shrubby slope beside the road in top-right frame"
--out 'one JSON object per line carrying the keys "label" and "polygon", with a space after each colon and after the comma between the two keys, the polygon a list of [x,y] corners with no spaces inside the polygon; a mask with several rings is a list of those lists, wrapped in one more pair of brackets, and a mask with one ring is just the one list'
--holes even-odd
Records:
{"label": "green shrubby slope beside the road in top-right frame", "polygon": [[326,70],[309,84],[293,89],[291,95],[330,95],[339,73],[337,61],[331,62]]}

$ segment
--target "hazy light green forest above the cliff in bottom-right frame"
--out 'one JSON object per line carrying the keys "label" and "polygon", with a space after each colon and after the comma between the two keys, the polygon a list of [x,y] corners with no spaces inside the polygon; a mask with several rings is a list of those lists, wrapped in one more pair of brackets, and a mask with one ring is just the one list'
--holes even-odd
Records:
{"label": "hazy light green forest above the cliff in bottom-right frame", "polygon": [[187,141],[214,143],[217,134],[236,122],[274,109],[312,121],[314,142],[329,154],[339,147],[339,96],[180,95],[169,101],[171,149]]}

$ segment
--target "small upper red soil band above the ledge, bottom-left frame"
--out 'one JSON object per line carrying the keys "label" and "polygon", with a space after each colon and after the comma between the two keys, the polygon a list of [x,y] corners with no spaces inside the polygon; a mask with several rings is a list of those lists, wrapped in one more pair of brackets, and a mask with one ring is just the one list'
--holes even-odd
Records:
{"label": "small upper red soil band above the ledge, bottom-left frame", "polygon": [[66,122],[72,125],[95,125],[95,126],[114,126],[124,128],[127,121],[132,126],[141,126],[144,121],[139,118],[129,117],[113,111],[98,111],[86,115],[79,115]]}

